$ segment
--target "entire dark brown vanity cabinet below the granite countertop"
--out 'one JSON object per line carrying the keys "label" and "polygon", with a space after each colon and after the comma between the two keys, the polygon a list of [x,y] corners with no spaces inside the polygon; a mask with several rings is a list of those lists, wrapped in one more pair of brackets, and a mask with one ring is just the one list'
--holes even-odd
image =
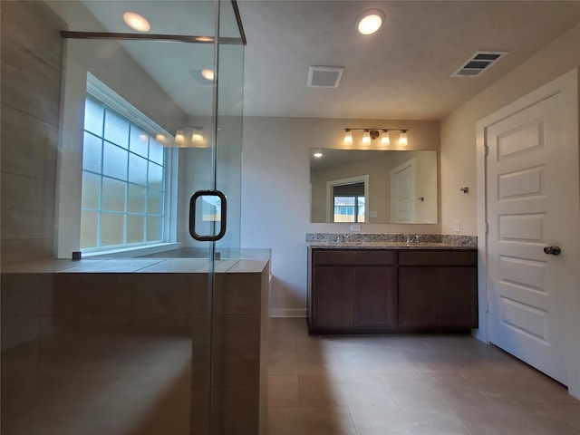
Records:
{"label": "entire dark brown vanity cabinet below the granite countertop", "polygon": [[308,249],[311,333],[478,327],[477,251]]}

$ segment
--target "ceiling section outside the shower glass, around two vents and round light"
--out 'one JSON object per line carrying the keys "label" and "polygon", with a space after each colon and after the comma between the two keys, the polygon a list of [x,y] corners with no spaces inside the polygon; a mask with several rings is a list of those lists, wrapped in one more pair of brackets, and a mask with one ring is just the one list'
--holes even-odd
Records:
{"label": "ceiling section outside the shower glass, around two vents and round light", "polygon": [[[378,33],[356,18],[381,9]],[[244,114],[440,120],[580,22],[580,2],[240,0],[247,34]],[[476,51],[508,52],[450,77]],[[306,86],[309,65],[345,67],[337,88]]]}

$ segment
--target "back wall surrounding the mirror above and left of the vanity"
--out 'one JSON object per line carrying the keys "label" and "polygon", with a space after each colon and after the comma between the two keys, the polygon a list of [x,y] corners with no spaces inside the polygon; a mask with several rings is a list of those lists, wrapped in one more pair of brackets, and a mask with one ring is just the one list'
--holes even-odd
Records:
{"label": "back wall surrounding the mirror above and left of the vanity", "polygon": [[[310,148],[344,148],[343,129],[409,129],[409,150],[439,150],[438,121],[247,117],[242,158],[242,247],[272,248],[274,315],[305,315],[308,232],[350,232],[310,223]],[[365,233],[439,234],[440,225],[362,224]]]}

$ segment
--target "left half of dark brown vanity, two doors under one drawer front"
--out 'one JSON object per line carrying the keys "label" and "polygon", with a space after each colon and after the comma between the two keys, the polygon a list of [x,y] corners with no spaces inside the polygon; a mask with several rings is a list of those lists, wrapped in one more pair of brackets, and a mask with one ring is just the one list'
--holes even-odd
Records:
{"label": "left half of dark brown vanity, two doors under one drawer front", "polygon": [[377,332],[397,327],[396,253],[309,250],[311,333]]}

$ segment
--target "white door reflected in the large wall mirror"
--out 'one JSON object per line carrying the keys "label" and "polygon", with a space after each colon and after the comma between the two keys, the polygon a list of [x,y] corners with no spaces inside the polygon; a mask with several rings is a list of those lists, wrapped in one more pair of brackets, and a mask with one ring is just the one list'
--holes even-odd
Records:
{"label": "white door reflected in the large wall mirror", "polygon": [[415,160],[391,169],[391,223],[415,221]]}

